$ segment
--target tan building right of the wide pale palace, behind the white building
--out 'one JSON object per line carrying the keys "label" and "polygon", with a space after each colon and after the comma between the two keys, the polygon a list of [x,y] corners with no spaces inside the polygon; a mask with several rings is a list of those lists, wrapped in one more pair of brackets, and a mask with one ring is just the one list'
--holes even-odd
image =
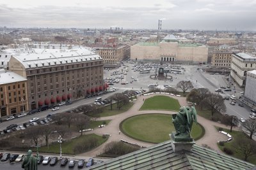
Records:
{"label": "tan building right of the wide pale palace, behind the white building", "polygon": [[212,52],[212,67],[231,67],[232,52]]}

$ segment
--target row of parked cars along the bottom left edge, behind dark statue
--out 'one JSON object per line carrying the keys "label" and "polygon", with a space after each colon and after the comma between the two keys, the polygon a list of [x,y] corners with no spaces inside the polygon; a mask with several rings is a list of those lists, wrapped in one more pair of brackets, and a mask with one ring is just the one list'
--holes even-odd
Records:
{"label": "row of parked cars along the bottom left edge, behind dark statue", "polygon": [[[16,154],[13,153],[0,153],[0,159],[2,162],[10,160],[10,162],[22,162],[24,159],[25,155],[24,154]],[[36,157],[36,155],[35,155]],[[97,162],[94,161],[93,158],[88,159],[87,162],[85,162],[84,159],[80,159],[78,161],[76,160],[68,160],[67,158],[63,158],[61,160],[58,160],[58,157],[43,157],[42,155],[38,155],[38,160],[37,164],[43,164],[47,165],[49,164],[50,166],[54,166],[57,164],[57,162],[60,161],[60,166],[66,166],[68,164],[68,167],[74,167],[77,162],[77,167],[84,167],[84,163],[86,163],[86,167],[93,166],[93,164],[99,164],[102,163],[103,161],[98,160]]]}

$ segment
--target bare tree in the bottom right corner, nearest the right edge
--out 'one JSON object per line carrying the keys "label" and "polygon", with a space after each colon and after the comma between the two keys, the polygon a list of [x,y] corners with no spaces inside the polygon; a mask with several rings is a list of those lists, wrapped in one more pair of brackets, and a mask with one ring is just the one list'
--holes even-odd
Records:
{"label": "bare tree in the bottom right corner, nearest the right edge", "polygon": [[236,152],[239,152],[244,155],[244,160],[246,161],[248,157],[255,155],[256,153],[256,143],[253,140],[248,138],[244,138],[244,136],[238,136],[235,143],[234,148],[236,148]]}

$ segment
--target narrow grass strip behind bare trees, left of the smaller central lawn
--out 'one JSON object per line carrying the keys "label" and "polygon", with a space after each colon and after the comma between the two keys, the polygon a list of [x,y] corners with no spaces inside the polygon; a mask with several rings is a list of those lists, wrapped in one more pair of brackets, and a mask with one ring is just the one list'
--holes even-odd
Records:
{"label": "narrow grass strip behind bare trees, left of the smaller central lawn", "polygon": [[133,102],[130,102],[129,104],[123,106],[120,110],[118,110],[118,108],[116,108],[116,103],[113,104],[112,108],[113,110],[111,110],[110,105],[109,106],[105,106],[103,108],[102,113],[98,113],[95,115],[95,117],[110,117],[113,115],[118,115],[119,113],[123,113],[127,110],[129,110],[129,108],[131,108],[131,106],[133,105]]}

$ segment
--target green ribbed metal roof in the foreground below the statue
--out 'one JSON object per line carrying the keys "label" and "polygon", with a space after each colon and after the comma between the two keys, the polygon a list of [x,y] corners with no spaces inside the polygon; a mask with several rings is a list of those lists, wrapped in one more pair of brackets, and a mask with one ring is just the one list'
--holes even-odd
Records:
{"label": "green ribbed metal roof in the foreground below the statue", "polygon": [[174,153],[169,140],[85,169],[248,169],[253,166],[198,145],[193,145],[191,151]]}

